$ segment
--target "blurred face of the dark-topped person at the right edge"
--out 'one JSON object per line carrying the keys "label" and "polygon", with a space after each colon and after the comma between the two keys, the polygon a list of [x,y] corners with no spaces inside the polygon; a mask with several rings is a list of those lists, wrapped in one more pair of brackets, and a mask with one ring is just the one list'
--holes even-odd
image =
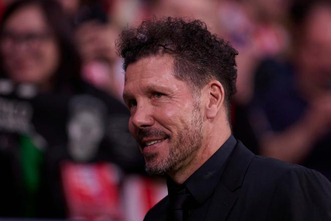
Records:
{"label": "blurred face of the dark-topped person at the right edge", "polygon": [[297,53],[300,75],[331,89],[331,7],[315,7],[306,18]]}

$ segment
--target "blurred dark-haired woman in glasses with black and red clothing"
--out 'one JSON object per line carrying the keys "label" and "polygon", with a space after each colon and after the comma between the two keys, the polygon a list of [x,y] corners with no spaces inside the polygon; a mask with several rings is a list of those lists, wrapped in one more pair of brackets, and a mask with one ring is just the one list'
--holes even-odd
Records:
{"label": "blurred dark-haired woman in glasses with black and red clothing", "polygon": [[72,37],[55,1],[15,1],[2,17],[1,216],[117,217],[120,170],[143,168],[126,107],[82,79]]}

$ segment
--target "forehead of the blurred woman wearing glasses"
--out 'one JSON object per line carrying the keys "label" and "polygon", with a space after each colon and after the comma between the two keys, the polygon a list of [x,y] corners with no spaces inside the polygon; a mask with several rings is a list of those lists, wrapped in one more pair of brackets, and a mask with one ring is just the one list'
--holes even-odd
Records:
{"label": "forehead of the blurred woman wearing glasses", "polygon": [[45,16],[36,5],[27,5],[9,16],[5,28],[17,31],[33,31],[46,28]]}

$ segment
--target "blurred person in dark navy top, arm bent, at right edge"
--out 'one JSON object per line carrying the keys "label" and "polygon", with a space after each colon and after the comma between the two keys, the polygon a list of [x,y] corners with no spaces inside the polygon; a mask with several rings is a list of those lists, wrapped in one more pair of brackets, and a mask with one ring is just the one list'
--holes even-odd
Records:
{"label": "blurred person in dark navy top, arm bent, at right edge", "polygon": [[331,1],[297,1],[291,12],[291,56],[260,64],[248,118],[260,154],[331,180]]}

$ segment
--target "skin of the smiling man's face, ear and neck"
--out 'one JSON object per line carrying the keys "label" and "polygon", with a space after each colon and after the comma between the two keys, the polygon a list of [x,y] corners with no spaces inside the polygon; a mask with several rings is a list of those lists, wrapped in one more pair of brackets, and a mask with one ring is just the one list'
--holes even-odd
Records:
{"label": "skin of the smiling man's face, ear and neck", "polygon": [[[224,89],[210,81],[201,96],[173,75],[170,56],[146,57],[128,66],[123,98],[129,130],[150,173],[183,183],[229,138]],[[221,132],[221,133],[220,133]],[[146,142],[161,141],[146,147]]]}

